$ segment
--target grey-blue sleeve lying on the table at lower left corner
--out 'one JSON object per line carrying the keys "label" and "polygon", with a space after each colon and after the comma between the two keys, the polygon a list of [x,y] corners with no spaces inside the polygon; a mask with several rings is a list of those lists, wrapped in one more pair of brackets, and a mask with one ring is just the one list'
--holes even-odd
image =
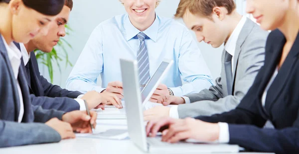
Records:
{"label": "grey-blue sleeve lying on the table at lower left corner", "polygon": [[59,142],[57,131],[42,123],[0,120],[0,148]]}

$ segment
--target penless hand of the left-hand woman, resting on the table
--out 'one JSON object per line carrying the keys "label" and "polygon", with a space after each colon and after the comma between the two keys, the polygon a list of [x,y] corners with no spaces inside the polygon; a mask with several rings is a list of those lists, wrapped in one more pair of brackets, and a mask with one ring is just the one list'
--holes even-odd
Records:
{"label": "penless hand of the left-hand woman, resting on the table", "polygon": [[67,122],[60,121],[57,118],[52,118],[45,124],[58,132],[62,140],[76,137],[71,125]]}

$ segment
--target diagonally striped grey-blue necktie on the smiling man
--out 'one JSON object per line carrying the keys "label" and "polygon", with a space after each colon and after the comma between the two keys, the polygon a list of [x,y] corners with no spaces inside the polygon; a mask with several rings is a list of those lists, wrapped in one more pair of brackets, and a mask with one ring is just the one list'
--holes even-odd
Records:
{"label": "diagonally striped grey-blue necktie on the smiling man", "polygon": [[140,46],[137,53],[138,61],[138,72],[139,72],[139,83],[147,84],[149,81],[149,55],[146,47],[145,39],[147,35],[143,32],[137,34],[137,37],[140,40]]}

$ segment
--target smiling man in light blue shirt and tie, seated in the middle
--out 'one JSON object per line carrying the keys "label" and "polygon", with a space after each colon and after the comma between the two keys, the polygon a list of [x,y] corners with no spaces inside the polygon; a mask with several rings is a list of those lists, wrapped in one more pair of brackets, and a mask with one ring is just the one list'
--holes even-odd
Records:
{"label": "smiling man in light blue shirt and tie, seated in the middle", "polygon": [[[121,0],[128,14],[108,19],[94,29],[67,79],[67,88],[85,93],[102,92],[106,87],[122,98],[120,58],[138,61],[140,84],[149,81],[163,59],[174,61],[163,84],[151,96],[153,102],[162,95],[182,96],[213,85],[189,30],[174,19],[155,14],[159,1]],[[102,86],[97,86],[100,75]]]}

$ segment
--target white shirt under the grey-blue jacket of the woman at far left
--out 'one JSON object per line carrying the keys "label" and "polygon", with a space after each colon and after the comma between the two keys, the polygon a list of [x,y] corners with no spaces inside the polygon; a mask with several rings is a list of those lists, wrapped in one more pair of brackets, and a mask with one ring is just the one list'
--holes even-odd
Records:
{"label": "white shirt under the grey-blue jacket of the woman at far left", "polygon": [[18,120],[17,122],[20,123],[23,119],[23,115],[24,115],[24,103],[23,103],[23,96],[22,96],[22,91],[20,88],[20,84],[17,80],[17,76],[18,76],[18,71],[20,68],[20,64],[21,64],[21,53],[18,50],[18,48],[13,44],[13,42],[11,42],[9,45],[6,43],[4,37],[1,35],[2,40],[4,42],[4,46],[7,50],[7,55],[8,55],[8,59],[10,61],[10,65],[12,67],[12,71],[13,71],[13,75],[14,75],[14,79],[16,81],[16,87],[17,87],[17,92],[19,95],[19,103],[20,103],[20,110],[19,110],[19,115],[18,115]]}

